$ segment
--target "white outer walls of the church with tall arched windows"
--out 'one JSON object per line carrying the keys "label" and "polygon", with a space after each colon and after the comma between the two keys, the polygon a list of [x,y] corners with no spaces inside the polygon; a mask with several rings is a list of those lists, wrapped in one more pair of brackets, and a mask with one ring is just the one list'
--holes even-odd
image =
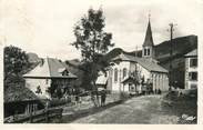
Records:
{"label": "white outer walls of the church with tall arched windows", "polygon": [[[140,64],[136,64],[134,62],[129,62],[129,61],[122,61],[119,64],[115,64],[111,68],[111,70],[109,71],[109,81],[108,81],[108,90],[112,90],[112,91],[129,91],[129,84],[125,84],[123,87],[123,83],[121,83],[125,78],[123,78],[123,68],[128,69],[128,76],[130,76],[132,72],[134,72],[136,67],[138,73],[139,73],[139,78],[143,78],[144,77],[144,82],[148,81],[148,79],[150,79],[150,81],[153,84],[153,90],[155,89],[161,89],[162,91],[166,91],[169,90],[169,78],[168,78],[168,73],[162,73],[162,72],[150,72],[149,70],[146,70],[145,68],[143,68]],[[114,81],[114,69],[118,69],[118,81]],[[140,80],[141,83],[141,80]],[[141,86],[138,87],[138,90],[141,91]]]}

